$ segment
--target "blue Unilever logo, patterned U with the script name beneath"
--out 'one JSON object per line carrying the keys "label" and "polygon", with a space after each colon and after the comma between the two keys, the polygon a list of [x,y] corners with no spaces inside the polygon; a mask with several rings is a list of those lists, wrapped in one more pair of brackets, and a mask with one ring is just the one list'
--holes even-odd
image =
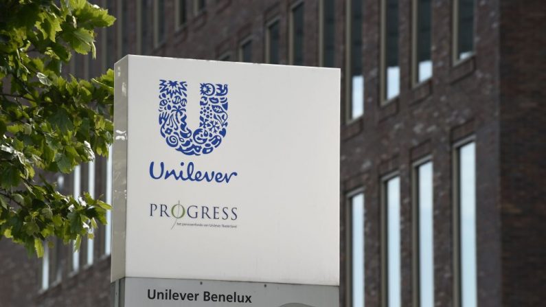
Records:
{"label": "blue Unilever logo, patterned U with the script name beneath", "polygon": [[[187,156],[211,153],[222,143],[227,133],[227,84],[201,83],[199,126],[192,130],[187,126],[187,82],[159,80],[159,132],[168,146]],[[237,172],[198,170],[192,161],[179,163],[183,169],[168,169],[166,163],[159,166],[150,162],[152,179],[177,181],[206,181],[229,183]]]}

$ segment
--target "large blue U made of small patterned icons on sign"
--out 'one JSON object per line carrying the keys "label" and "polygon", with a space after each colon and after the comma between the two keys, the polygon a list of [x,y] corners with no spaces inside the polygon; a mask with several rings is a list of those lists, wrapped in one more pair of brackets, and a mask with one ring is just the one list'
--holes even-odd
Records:
{"label": "large blue U made of small patterned icons on sign", "polygon": [[227,129],[227,84],[201,83],[199,127],[186,124],[187,83],[159,80],[159,126],[168,146],[184,155],[206,155],[220,146]]}

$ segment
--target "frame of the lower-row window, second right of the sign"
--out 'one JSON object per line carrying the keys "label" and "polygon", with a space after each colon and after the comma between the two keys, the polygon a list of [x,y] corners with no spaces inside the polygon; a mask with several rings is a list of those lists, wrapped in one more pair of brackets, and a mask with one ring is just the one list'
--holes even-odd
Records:
{"label": "frame of the lower-row window, second right of the sign", "polygon": [[[389,307],[389,251],[387,248],[387,245],[389,244],[389,224],[388,224],[388,211],[387,211],[387,205],[388,205],[388,199],[387,199],[387,184],[392,179],[398,178],[398,189],[399,189],[399,198],[398,201],[398,207],[399,209],[402,208],[402,177],[400,177],[400,171],[395,170],[393,172],[389,172],[388,174],[385,174],[383,177],[380,178],[380,306],[383,307]],[[402,219],[402,214],[400,214],[400,220]],[[401,230],[401,227],[399,225],[399,228]],[[401,244],[402,244],[402,236],[400,236],[400,242],[398,244],[400,245],[400,251],[401,251]],[[402,278],[402,257],[400,255],[400,278]],[[402,280],[400,280],[402,282]],[[400,284],[400,289],[402,290],[402,285]],[[400,292],[400,295],[402,293]]]}

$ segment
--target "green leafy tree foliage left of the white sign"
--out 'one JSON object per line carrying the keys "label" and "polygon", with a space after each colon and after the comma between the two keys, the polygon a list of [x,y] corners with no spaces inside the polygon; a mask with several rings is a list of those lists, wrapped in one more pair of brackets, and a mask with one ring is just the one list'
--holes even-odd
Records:
{"label": "green leafy tree foliage left of the white sign", "polygon": [[95,56],[95,28],[114,22],[86,0],[0,1],[0,239],[43,255],[43,242],[93,236],[110,206],[62,195],[47,172],[108,155],[113,72],[62,76],[73,52]]}

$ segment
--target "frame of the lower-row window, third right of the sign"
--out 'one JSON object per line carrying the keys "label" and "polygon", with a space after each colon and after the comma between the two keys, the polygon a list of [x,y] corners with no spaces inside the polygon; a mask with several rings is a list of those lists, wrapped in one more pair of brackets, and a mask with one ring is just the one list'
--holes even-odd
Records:
{"label": "frame of the lower-row window, third right of the sign", "polygon": [[[426,155],[416,161],[411,163],[411,249],[412,249],[412,259],[411,259],[411,276],[412,276],[412,299],[413,306],[421,306],[421,282],[420,282],[420,268],[421,268],[421,250],[420,250],[420,206],[419,201],[419,187],[420,187],[420,177],[419,177],[419,168],[424,166],[426,163],[431,163],[432,168],[432,193],[433,193],[433,205],[434,205],[434,161],[432,155]],[[433,209],[434,211],[434,209]],[[434,249],[434,216],[433,216],[433,249]],[[433,258],[434,259],[434,258]],[[434,268],[434,263],[433,263]],[[435,275],[433,275],[433,278]],[[433,280],[434,282],[434,280]],[[433,284],[435,285],[435,284]]]}

